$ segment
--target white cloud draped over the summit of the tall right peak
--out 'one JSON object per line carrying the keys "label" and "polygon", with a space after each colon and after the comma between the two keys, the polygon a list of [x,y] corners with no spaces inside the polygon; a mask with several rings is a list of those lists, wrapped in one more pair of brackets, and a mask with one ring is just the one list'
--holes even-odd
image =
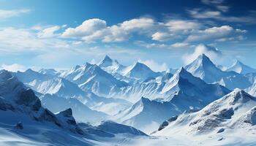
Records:
{"label": "white cloud draped over the summit of the tall right peak", "polygon": [[199,55],[206,54],[212,61],[217,61],[222,57],[222,52],[216,47],[209,45],[197,45],[193,53],[187,53],[182,56],[184,64],[189,64],[194,61]]}

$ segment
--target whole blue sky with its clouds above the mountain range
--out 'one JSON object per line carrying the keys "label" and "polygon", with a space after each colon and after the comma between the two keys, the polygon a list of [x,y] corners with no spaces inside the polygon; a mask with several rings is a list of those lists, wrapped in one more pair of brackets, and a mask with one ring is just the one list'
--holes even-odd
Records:
{"label": "whole blue sky with its clouds above the mountain range", "polygon": [[238,59],[256,68],[255,7],[252,0],[0,0],[0,65],[67,69],[110,55],[165,70],[206,53],[216,64]]}

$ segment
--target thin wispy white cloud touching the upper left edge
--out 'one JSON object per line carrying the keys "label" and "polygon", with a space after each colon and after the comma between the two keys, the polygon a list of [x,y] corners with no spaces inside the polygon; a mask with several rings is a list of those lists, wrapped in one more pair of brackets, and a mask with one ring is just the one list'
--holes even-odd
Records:
{"label": "thin wispy white cloud touching the upper left edge", "polygon": [[29,9],[0,9],[0,20],[5,18],[12,18],[15,16],[19,16],[23,13],[30,12]]}

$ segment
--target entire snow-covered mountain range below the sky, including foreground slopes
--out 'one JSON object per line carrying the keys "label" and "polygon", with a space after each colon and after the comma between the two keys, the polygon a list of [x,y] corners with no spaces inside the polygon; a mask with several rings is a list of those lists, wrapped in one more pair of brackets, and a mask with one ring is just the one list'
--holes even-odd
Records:
{"label": "entire snow-covered mountain range below the sky, including foreground slopes", "polygon": [[1,70],[0,145],[252,145],[254,96],[256,69],[219,69],[205,54],[165,72],[108,55],[62,71]]}

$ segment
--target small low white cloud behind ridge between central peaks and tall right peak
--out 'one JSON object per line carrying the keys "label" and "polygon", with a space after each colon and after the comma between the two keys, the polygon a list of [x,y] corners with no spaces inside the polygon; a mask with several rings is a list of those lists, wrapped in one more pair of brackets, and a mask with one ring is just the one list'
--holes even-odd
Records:
{"label": "small low white cloud behind ridge between central peaks and tall right peak", "polygon": [[162,72],[166,71],[168,69],[167,64],[159,64],[154,60],[138,60],[139,62],[146,64],[150,69],[152,69],[154,72]]}

